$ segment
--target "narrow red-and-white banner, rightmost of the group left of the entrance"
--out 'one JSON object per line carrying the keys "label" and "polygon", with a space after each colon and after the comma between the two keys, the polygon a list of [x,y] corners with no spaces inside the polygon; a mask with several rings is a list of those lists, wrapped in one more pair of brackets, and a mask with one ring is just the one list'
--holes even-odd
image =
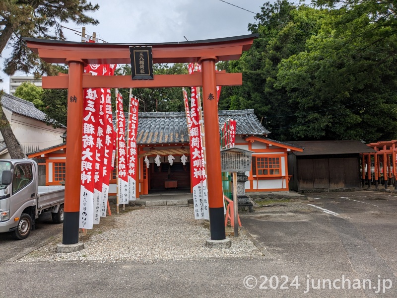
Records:
{"label": "narrow red-and-white banner, rightmost of the group left of the entrance", "polygon": [[130,111],[128,119],[128,146],[127,146],[127,176],[129,201],[136,200],[136,175],[138,168],[138,151],[136,134],[138,132],[139,100],[130,95]]}

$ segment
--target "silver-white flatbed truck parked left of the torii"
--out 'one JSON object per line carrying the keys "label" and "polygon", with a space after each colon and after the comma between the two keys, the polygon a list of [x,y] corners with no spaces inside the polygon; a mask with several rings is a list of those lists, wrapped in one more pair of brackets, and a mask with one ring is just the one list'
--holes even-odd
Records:
{"label": "silver-white flatbed truck parked left of the torii", "polygon": [[37,178],[34,160],[0,159],[0,233],[25,239],[43,212],[52,212],[55,224],[64,222],[65,188],[38,186]]}

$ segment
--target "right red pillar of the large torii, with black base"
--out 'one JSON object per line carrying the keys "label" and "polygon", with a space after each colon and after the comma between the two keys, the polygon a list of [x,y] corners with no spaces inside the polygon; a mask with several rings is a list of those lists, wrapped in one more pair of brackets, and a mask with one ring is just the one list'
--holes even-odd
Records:
{"label": "right red pillar of the large torii, with black base", "polygon": [[216,100],[216,57],[201,58],[202,104],[205,123],[206,173],[211,240],[226,239],[222,171],[220,165],[218,103]]}

